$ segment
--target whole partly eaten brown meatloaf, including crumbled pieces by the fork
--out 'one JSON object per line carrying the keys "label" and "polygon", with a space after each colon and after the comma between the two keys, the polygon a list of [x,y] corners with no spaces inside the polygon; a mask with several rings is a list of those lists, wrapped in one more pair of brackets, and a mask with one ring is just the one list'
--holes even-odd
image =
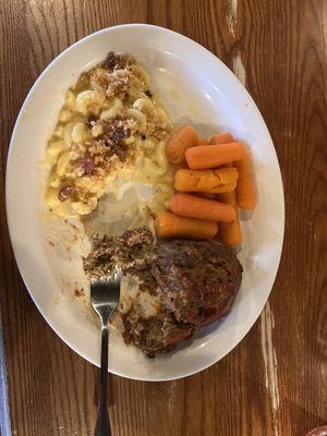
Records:
{"label": "whole partly eaten brown meatloaf, including crumbled pieces by the fork", "polygon": [[94,239],[85,271],[99,277],[116,264],[137,277],[140,291],[159,292],[161,305],[155,316],[145,316],[137,305],[122,315],[125,342],[149,358],[227,315],[242,279],[235,253],[218,241],[155,241],[147,228]]}

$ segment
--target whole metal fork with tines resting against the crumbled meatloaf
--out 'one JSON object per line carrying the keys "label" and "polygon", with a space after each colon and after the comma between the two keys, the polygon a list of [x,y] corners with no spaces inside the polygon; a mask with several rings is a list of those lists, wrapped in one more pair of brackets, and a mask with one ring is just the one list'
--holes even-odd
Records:
{"label": "whole metal fork with tines resting against the crumbled meatloaf", "polygon": [[90,303],[101,319],[100,398],[95,436],[111,436],[108,413],[108,323],[120,296],[121,269],[116,267],[110,276],[90,279]]}

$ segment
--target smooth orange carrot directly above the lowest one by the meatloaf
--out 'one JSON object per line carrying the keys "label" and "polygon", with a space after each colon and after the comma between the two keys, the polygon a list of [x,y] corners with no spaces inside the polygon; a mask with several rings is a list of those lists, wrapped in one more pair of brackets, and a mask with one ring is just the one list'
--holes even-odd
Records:
{"label": "smooth orange carrot directly above the lowest one by the meatloaf", "polygon": [[170,199],[170,209],[182,217],[210,221],[232,222],[237,218],[233,206],[189,194],[173,195]]}

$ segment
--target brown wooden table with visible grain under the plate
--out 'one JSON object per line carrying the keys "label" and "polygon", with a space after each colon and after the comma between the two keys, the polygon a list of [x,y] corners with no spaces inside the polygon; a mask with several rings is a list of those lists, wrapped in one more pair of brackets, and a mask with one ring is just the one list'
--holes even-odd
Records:
{"label": "brown wooden table with visible grain under the plate", "polygon": [[[20,107],[75,40],[121,23],[180,32],[216,53],[270,130],[286,191],[283,254],[269,302],[222,361],[170,383],[111,377],[114,435],[305,435],[327,423],[327,1],[0,0],[0,428],[92,435],[97,370],[50,329],[11,251],[4,170]],[[28,147],[28,138],[26,138]],[[36,272],[37,274],[37,272]],[[9,415],[5,403],[8,384]]]}

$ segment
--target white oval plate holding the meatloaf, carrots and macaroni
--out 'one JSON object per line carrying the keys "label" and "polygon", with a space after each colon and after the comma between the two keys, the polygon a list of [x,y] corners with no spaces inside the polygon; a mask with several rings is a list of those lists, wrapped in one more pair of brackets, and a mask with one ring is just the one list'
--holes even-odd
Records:
{"label": "white oval plate holding the meatloaf, carrots and macaroni", "polygon": [[229,353],[261,314],[281,255],[284,204],[280,169],[267,126],[242,84],[213,53],[166,28],[144,24],[106,28],[77,41],[43,72],[19,114],[7,166],[7,213],[24,282],[38,310],[69,347],[99,365],[99,330],[60,291],[43,243],[37,162],[63,104],[64,90],[107,52],[133,53],[149,71],[153,88],[173,121],[192,121],[204,133],[231,131],[251,147],[258,205],[242,221],[243,281],[232,312],[193,341],[156,360],[120,337],[110,340],[109,371],[140,380],[169,380],[206,368]]}

